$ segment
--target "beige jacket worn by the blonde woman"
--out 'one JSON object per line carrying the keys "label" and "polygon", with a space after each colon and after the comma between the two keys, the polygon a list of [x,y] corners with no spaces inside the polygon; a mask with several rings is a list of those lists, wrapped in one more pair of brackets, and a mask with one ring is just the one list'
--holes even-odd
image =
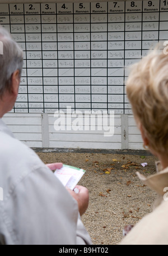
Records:
{"label": "beige jacket worn by the blonde woman", "polygon": [[160,162],[156,167],[157,173],[147,178],[137,172],[143,184],[157,192],[156,208],[133,227],[121,245],[168,245],[168,168],[162,170]]}

